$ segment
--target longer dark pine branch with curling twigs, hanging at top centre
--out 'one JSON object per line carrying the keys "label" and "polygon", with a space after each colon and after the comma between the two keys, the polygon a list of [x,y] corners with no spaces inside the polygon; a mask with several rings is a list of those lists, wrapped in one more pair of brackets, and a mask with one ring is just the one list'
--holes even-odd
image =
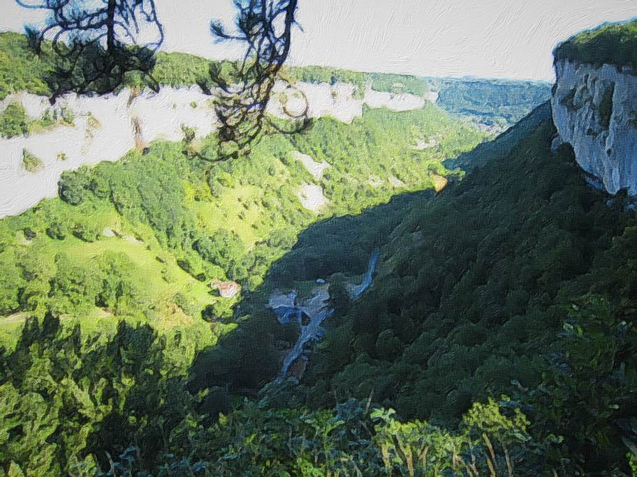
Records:
{"label": "longer dark pine branch with curling twigs, hanging at top centre", "polygon": [[247,151],[265,130],[295,132],[308,123],[307,98],[298,89],[295,96],[302,100],[300,108],[282,102],[291,125],[288,121],[284,126],[283,122],[273,121],[266,115],[277,79],[286,83],[286,89],[293,89],[279,73],[290,52],[298,0],[235,0],[234,3],[236,33],[227,31],[221,22],[210,24],[212,35],[218,41],[245,45],[244,56],[233,63],[229,73],[222,72],[219,65],[210,68],[212,82],[219,89],[215,109],[221,123],[222,156]]}

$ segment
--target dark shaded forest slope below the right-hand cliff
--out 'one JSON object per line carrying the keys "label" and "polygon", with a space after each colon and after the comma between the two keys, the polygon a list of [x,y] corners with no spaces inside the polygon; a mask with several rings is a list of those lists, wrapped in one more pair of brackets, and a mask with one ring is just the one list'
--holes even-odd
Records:
{"label": "dark shaded forest slope below the right-hand cliff", "polygon": [[[551,153],[551,134],[544,123],[457,186],[414,199],[375,284],[330,319],[302,381],[307,404],[372,393],[453,426],[506,392],[528,406],[536,439],[562,436],[553,465],[625,469],[637,222],[622,197],[607,204],[586,185],[569,149]],[[375,236],[367,226],[358,234]]]}

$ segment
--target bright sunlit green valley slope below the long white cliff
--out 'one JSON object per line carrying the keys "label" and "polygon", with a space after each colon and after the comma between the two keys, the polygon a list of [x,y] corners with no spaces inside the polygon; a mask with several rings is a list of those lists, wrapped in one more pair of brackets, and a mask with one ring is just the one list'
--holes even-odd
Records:
{"label": "bright sunlit green valley slope below the long white cliff", "polygon": [[[429,137],[438,146],[418,151]],[[211,280],[258,287],[312,222],[440,188],[460,174],[442,161],[481,139],[434,105],[366,109],[352,124],[324,118],[300,135],[265,137],[228,162],[157,142],[144,155],[67,172],[62,199],[0,221],[0,326],[6,334],[20,317],[53,310],[86,326],[135,316],[209,333],[202,310],[227,317],[240,297],[213,296]],[[214,160],[214,138],[199,147]],[[319,175],[312,165],[321,164]]]}

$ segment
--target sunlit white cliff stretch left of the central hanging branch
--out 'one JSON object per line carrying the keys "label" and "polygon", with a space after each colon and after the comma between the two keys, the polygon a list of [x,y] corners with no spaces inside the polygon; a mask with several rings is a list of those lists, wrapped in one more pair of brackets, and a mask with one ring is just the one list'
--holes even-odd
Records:
{"label": "sunlit white cliff stretch left of the central hanging branch", "polygon": [[[0,139],[0,217],[55,197],[64,171],[118,160],[153,139],[180,140],[182,123],[195,127],[198,136],[209,134],[216,116],[206,106],[207,100],[210,96],[196,89],[170,88],[140,96],[131,96],[129,90],[102,97],[64,96],[54,109],[73,112],[73,126],[59,125],[26,137]],[[20,101],[34,119],[51,107],[47,98],[26,93],[12,95],[3,103],[11,101]],[[24,168],[23,150],[41,161],[35,172]]]}

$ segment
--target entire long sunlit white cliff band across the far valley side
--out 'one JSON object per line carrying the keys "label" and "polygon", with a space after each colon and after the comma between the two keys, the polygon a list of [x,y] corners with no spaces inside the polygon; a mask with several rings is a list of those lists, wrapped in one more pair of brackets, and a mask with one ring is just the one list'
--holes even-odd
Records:
{"label": "entire long sunlit white cliff band across the far valley side", "polygon": [[[390,95],[368,89],[364,98],[356,98],[353,84],[300,83],[309,103],[309,117],[332,116],[351,122],[363,114],[363,104],[388,107],[396,111],[420,109],[425,99],[413,95]],[[284,91],[279,85],[278,93]],[[300,96],[299,96],[300,98]],[[275,94],[268,112],[284,116]],[[159,93],[141,94],[124,89],[119,94],[105,96],[75,96],[69,94],[51,106],[47,98],[29,93],[17,93],[0,101],[0,112],[12,102],[20,102],[32,119],[39,119],[47,110],[62,109],[73,113],[74,126],[56,126],[29,136],[0,138],[0,218],[15,215],[36,205],[42,199],[57,195],[57,183],[64,171],[78,169],[103,160],[122,158],[134,147],[142,148],[155,139],[179,141],[182,124],[196,129],[197,137],[210,134],[217,126],[212,97],[198,87],[189,89],[162,88]],[[294,98],[288,99],[288,109],[295,109]],[[304,103],[305,104],[305,103]],[[23,151],[36,156],[41,166],[29,172],[24,167]],[[317,191],[312,207],[323,205]],[[321,192],[322,195],[322,192]],[[326,200],[326,199],[325,199]]]}

